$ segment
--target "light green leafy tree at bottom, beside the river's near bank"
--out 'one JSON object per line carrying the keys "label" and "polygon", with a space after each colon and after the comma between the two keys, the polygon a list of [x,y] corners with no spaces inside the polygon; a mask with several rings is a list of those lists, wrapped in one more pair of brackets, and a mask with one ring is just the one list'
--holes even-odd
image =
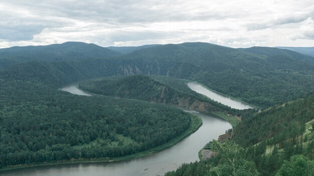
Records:
{"label": "light green leafy tree at bottom, beside the river's near bank", "polygon": [[221,160],[216,167],[209,170],[210,175],[259,175],[255,164],[244,159],[244,149],[235,144],[234,141],[220,143],[213,140],[212,150],[221,154]]}

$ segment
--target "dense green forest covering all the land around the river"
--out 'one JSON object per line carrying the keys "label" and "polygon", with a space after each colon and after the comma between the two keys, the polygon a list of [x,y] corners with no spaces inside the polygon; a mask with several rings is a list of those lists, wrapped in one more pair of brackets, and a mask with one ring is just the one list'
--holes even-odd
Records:
{"label": "dense green forest covering all the land around the river", "polygon": [[[261,111],[232,109],[189,90],[186,80]],[[76,81],[104,96],[58,90]],[[311,175],[313,91],[314,57],[279,48],[66,42],[0,49],[0,167],[162,146],[201,125],[172,104],[242,120],[230,141],[212,141],[213,157],[166,175],[288,175],[297,164],[294,175]]]}

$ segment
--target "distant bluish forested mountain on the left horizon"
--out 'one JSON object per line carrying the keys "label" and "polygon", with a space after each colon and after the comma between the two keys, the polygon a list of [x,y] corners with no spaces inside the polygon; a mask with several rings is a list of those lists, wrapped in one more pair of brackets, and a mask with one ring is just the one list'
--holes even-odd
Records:
{"label": "distant bluish forested mountain on the left horizon", "polygon": [[89,58],[107,58],[121,55],[119,52],[84,42],[65,42],[43,46],[14,46],[0,49],[0,63],[6,68],[25,61],[64,61]]}

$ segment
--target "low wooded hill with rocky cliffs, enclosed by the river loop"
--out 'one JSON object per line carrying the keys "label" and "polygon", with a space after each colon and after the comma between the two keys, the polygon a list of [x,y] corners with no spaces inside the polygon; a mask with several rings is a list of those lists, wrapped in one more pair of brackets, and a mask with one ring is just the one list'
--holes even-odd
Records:
{"label": "low wooded hill with rocky cliffs, enclosed by the river loop", "polygon": [[[166,79],[168,80],[167,83],[163,81]],[[174,81],[180,83],[173,83]],[[225,112],[233,115],[242,112],[206,98],[192,90],[187,90],[189,89],[186,85],[187,81],[181,81],[182,80],[173,80],[162,76],[112,76],[80,82],[79,88],[105,96],[174,104],[206,112]],[[176,84],[183,87],[174,87],[173,85]]]}

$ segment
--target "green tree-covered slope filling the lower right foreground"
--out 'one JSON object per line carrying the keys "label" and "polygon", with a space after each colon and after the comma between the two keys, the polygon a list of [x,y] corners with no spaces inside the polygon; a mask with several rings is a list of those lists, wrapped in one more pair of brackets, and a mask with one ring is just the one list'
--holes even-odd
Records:
{"label": "green tree-covered slope filling the lower right foreground", "polygon": [[216,155],[166,175],[312,175],[313,109],[310,95],[258,112],[234,128],[230,141],[212,141]]}

